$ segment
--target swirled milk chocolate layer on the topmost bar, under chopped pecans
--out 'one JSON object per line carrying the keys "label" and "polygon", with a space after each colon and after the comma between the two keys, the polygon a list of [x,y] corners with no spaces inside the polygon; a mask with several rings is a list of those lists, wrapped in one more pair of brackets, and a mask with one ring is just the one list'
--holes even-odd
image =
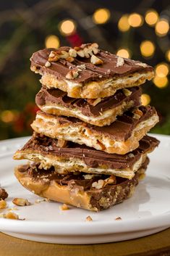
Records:
{"label": "swirled milk chocolate layer on the topmost bar, under chopped pecans", "polygon": [[101,80],[107,78],[118,78],[134,73],[146,73],[153,71],[153,67],[148,65],[140,65],[141,62],[132,59],[124,59],[123,65],[117,65],[118,57],[108,51],[99,50],[96,57],[103,61],[102,65],[93,65],[90,58],[76,57],[74,62],[69,62],[66,59],[59,59],[56,62],[51,62],[50,67],[45,67],[51,51],[69,51],[70,47],[60,47],[59,49],[43,49],[36,51],[31,59],[31,66],[40,70],[40,73],[50,73],[55,75],[57,79],[66,79],[67,73],[70,70],[77,69],[77,66],[85,65],[85,69],[80,72],[74,82],[87,83],[92,80]]}

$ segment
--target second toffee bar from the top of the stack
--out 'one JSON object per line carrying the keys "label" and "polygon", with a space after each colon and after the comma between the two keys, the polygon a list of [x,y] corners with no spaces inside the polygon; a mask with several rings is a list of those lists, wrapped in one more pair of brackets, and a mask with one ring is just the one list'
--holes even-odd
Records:
{"label": "second toffee bar from the top of the stack", "polygon": [[48,114],[77,117],[91,125],[110,125],[118,115],[140,106],[139,87],[124,88],[116,94],[98,99],[75,99],[59,89],[41,88],[35,97],[38,107]]}

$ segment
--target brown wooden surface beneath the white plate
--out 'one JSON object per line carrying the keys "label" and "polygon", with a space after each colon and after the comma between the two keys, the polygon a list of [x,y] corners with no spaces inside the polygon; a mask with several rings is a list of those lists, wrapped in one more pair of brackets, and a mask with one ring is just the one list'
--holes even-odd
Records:
{"label": "brown wooden surface beneath the white plate", "polygon": [[44,244],[0,233],[0,256],[169,256],[170,228],[158,234],[109,244]]}

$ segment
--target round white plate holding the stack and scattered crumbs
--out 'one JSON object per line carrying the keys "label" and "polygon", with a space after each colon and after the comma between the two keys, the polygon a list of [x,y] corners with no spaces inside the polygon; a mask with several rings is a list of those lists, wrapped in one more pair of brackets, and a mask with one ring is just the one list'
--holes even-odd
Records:
{"label": "round white plate holding the stack and scattered crumbs", "polygon": [[[28,138],[0,142],[0,183],[7,189],[8,207],[14,197],[33,203],[14,210],[25,220],[0,218],[0,231],[22,239],[59,244],[96,244],[134,239],[154,234],[170,226],[170,136],[158,136],[161,144],[150,154],[147,177],[137,186],[135,194],[122,204],[102,212],[89,212],[72,207],[61,211],[56,202],[35,203],[40,197],[31,194],[13,175],[12,154]],[[86,222],[90,215],[93,221]],[[122,220],[115,220],[121,217]]]}

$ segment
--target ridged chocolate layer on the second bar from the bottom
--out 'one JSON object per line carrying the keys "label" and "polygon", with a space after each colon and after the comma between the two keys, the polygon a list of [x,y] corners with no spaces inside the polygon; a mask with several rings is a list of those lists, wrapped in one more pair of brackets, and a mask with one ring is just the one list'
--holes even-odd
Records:
{"label": "ridged chocolate layer on the second bar from the bottom", "polygon": [[141,157],[142,154],[152,151],[158,146],[159,141],[150,136],[144,136],[140,140],[140,146],[134,151],[127,154],[108,154],[99,150],[95,150],[85,145],[68,142],[67,148],[59,148],[56,146],[57,139],[51,139],[47,136],[34,133],[30,141],[23,146],[22,151],[31,150],[39,152],[43,156],[53,154],[56,157],[69,158],[75,157],[83,160],[86,165],[92,168],[106,165],[107,168],[126,169],[131,168],[132,165]]}

